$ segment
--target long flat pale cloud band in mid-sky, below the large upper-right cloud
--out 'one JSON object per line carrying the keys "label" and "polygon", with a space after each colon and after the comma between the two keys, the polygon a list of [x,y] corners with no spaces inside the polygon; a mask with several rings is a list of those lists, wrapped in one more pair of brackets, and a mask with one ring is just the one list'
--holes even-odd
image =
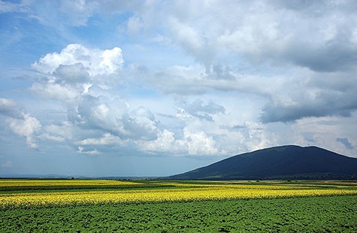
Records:
{"label": "long flat pale cloud band in mid-sky, below the large upper-right cloud", "polygon": [[264,75],[242,75],[228,66],[215,65],[207,71],[205,66],[170,66],[160,71],[152,71],[139,65],[131,65],[130,75],[148,86],[154,86],[165,94],[182,96],[205,95],[219,92],[238,92],[253,95],[270,95],[279,82],[286,77],[264,77]]}

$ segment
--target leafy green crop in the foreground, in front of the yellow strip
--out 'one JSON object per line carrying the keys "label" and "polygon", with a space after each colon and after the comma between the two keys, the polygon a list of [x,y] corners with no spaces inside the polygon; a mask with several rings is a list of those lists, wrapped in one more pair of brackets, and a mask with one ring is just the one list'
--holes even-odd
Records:
{"label": "leafy green crop in the foreground, in front of the yellow strip", "polygon": [[7,210],[3,232],[356,232],[357,197],[237,199]]}

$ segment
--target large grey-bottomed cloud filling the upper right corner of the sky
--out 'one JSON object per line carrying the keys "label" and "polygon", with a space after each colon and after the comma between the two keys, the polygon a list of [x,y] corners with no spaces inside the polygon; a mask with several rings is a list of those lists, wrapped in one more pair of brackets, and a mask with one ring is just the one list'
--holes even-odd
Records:
{"label": "large grey-bottomed cloud filling the upper right corner of the sky", "polygon": [[[219,43],[255,61],[292,62],[318,72],[356,67],[356,18],[354,10],[346,10],[350,7],[356,10],[356,4],[314,1],[294,8],[292,4],[274,1],[243,3],[244,7],[239,7],[241,4],[235,7],[224,4],[218,8],[219,13],[216,5],[205,5],[205,10],[216,16],[211,18],[207,14],[203,19],[207,25],[224,25],[229,13],[232,19],[216,32],[216,37],[209,36],[213,41],[207,45]],[[199,19],[200,15],[193,17]],[[201,35],[207,34],[203,31],[205,27],[195,29]]]}

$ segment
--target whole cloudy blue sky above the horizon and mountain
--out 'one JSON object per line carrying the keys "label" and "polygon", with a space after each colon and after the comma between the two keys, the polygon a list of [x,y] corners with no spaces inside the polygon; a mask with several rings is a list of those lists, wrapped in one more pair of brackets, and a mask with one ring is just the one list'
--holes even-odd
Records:
{"label": "whole cloudy blue sky above the horizon and mountain", "polygon": [[0,0],[0,175],[357,158],[357,1]]}

